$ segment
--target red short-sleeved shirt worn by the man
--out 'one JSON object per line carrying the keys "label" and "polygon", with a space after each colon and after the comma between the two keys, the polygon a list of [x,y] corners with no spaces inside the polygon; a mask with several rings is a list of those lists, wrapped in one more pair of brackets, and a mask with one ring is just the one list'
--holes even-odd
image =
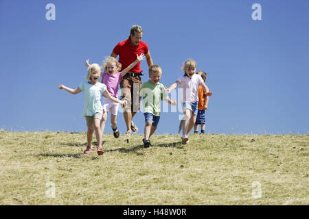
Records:
{"label": "red short-sleeved shirt worn by the man", "polygon": [[[132,62],[136,60],[136,54],[141,55],[148,53],[148,45],[146,42],[139,42],[136,47],[128,40],[119,42],[113,49],[113,53],[119,55],[119,62],[122,64],[122,69],[128,67]],[[131,68],[130,73],[140,73],[141,72],[141,62],[137,63],[133,68]]]}

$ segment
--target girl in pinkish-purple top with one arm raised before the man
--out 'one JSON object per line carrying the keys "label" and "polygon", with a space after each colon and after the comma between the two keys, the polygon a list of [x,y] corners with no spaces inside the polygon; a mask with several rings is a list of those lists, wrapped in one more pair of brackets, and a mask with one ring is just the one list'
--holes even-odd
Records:
{"label": "girl in pinkish-purple top with one arm raised before the man", "polygon": [[[106,57],[103,62],[102,68],[104,69],[104,73],[101,73],[102,83],[106,85],[108,92],[111,96],[115,98],[118,97],[118,88],[119,83],[122,80],[122,77],[128,73],[128,71],[133,68],[137,63],[141,60],[145,60],[145,55],[141,53],[141,55],[137,55],[137,59],[135,62],[131,63],[127,68],[119,72],[122,69],[122,64],[120,64],[115,57]],[[86,66],[89,66],[89,60],[86,61]],[[102,98],[102,107],[103,107],[103,115],[101,120],[101,130],[104,132],[105,122],[107,119],[108,111],[111,112],[111,127],[114,132],[115,138],[119,138],[119,131],[117,129],[117,114],[118,114],[118,103],[114,103],[113,101],[109,101],[104,95]]]}

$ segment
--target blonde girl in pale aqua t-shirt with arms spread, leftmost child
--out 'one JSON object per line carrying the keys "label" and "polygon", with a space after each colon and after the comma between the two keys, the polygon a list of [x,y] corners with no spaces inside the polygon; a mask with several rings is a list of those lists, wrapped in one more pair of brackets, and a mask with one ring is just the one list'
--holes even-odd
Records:
{"label": "blonde girl in pale aqua t-shirt with arms spread, leftmost child", "polygon": [[80,86],[76,89],[67,88],[66,86],[60,84],[58,86],[59,89],[67,90],[67,92],[71,94],[78,94],[79,92],[84,92],[84,112],[82,112],[82,116],[85,117],[87,123],[87,149],[84,151],[84,154],[88,155],[92,149],[91,140],[93,136],[93,127],[95,130],[95,137],[98,142],[98,155],[102,155],[104,153],[102,149],[102,132],[100,128],[100,121],[102,118],[102,105],[101,105],[101,93],[106,96],[107,99],[113,101],[115,103],[120,103],[122,105],[126,105],[126,101],[120,101],[116,99],[114,96],[109,94],[108,90],[106,90],[106,85],[104,83],[98,82],[100,78],[101,68],[99,64],[91,64],[88,68],[87,73],[87,82],[80,83]]}

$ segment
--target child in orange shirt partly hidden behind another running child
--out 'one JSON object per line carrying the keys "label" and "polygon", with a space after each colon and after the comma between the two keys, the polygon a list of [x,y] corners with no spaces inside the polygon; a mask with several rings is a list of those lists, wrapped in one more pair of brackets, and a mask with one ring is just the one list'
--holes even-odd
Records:
{"label": "child in orange shirt partly hidden behind another running child", "polygon": [[[204,82],[207,74],[203,71],[198,71],[196,74],[201,75]],[[201,124],[201,134],[205,133],[205,110],[208,108],[208,98],[205,96],[205,91],[201,86],[198,86],[198,114],[194,125],[194,133],[198,133],[198,125]]]}

